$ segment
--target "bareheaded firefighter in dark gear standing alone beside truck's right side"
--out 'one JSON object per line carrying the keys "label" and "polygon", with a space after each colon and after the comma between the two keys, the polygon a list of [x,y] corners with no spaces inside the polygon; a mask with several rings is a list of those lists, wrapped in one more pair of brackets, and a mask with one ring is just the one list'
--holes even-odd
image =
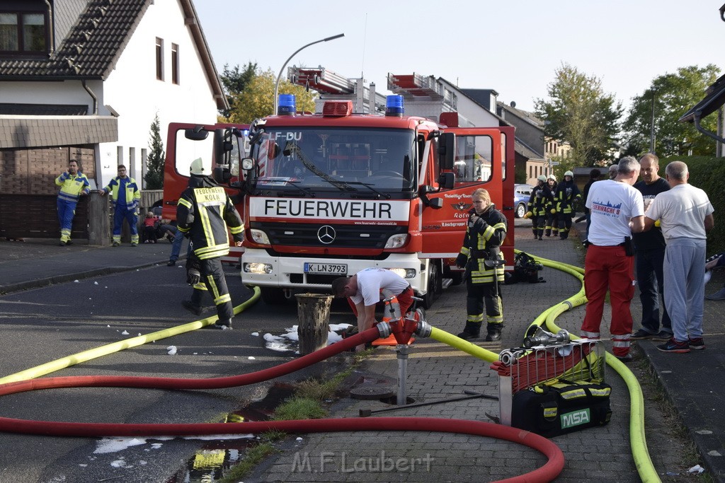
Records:
{"label": "bareheaded firefighter in dark gear standing alone beside truck's right side", "polygon": [[[479,337],[486,309],[486,341],[500,340],[503,329],[503,306],[498,286],[504,280],[503,253],[500,246],[506,238],[506,218],[498,211],[489,192],[483,188],[473,192],[473,209],[469,211],[468,227],[456,265],[465,267],[466,311],[468,316],[458,337],[468,340]],[[485,304],[484,304],[485,302]]]}

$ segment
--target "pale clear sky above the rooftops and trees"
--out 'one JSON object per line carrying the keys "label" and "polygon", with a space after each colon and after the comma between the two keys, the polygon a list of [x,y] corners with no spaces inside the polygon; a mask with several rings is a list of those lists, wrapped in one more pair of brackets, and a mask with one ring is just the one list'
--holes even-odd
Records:
{"label": "pale clear sky above the rooftops and trees", "polygon": [[386,92],[394,74],[492,88],[532,111],[555,70],[571,64],[629,106],[678,67],[725,69],[725,0],[235,1],[195,0],[219,72],[256,62],[275,75],[321,65]]}

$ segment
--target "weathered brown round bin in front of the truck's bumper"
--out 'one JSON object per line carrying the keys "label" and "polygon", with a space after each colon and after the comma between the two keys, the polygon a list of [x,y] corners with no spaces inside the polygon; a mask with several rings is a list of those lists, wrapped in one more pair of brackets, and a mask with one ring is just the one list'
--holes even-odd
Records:
{"label": "weathered brown round bin in front of the truck's bumper", "polygon": [[303,356],[327,346],[330,331],[330,306],[332,295],[322,293],[297,293],[297,335],[299,353]]}

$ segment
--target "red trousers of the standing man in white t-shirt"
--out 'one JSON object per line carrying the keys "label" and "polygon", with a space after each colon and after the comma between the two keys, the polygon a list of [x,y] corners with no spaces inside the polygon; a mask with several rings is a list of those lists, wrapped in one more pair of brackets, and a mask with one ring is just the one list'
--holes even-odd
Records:
{"label": "red trousers of the standing man in white t-shirt", "polygon": [[629,303],[634,295],[634,256],[626,256],[621,246],[589,245],[584,260],[584,291],[587,294],[587,314],[581,324],[583,337],[599,337],[604,312],[604,299],[609,290],[612,305],[612,334],[615,356],[629,352],[632,315]]}

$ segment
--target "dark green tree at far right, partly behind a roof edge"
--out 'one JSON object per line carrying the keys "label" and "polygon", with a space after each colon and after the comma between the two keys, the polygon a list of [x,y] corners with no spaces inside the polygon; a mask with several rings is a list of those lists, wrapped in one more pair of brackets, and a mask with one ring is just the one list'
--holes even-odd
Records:
{"label": "dark green tree at far right, partly behind a roof edge", "polygon": [[[655,153],[658,156],[715,154],[716,143],[697,132],[690,122],[677,122],[682,114],[705,96],[705,90],[718,77],[720,70],[713,64],[705,67],[680,67],[674,74],[655,77],[652,85],[632,101],[629,116],[624,122],[629,144],[650,149],[650,134],[655,125]],[[705,117],[701,124],[716,131],[717,116]]]}

